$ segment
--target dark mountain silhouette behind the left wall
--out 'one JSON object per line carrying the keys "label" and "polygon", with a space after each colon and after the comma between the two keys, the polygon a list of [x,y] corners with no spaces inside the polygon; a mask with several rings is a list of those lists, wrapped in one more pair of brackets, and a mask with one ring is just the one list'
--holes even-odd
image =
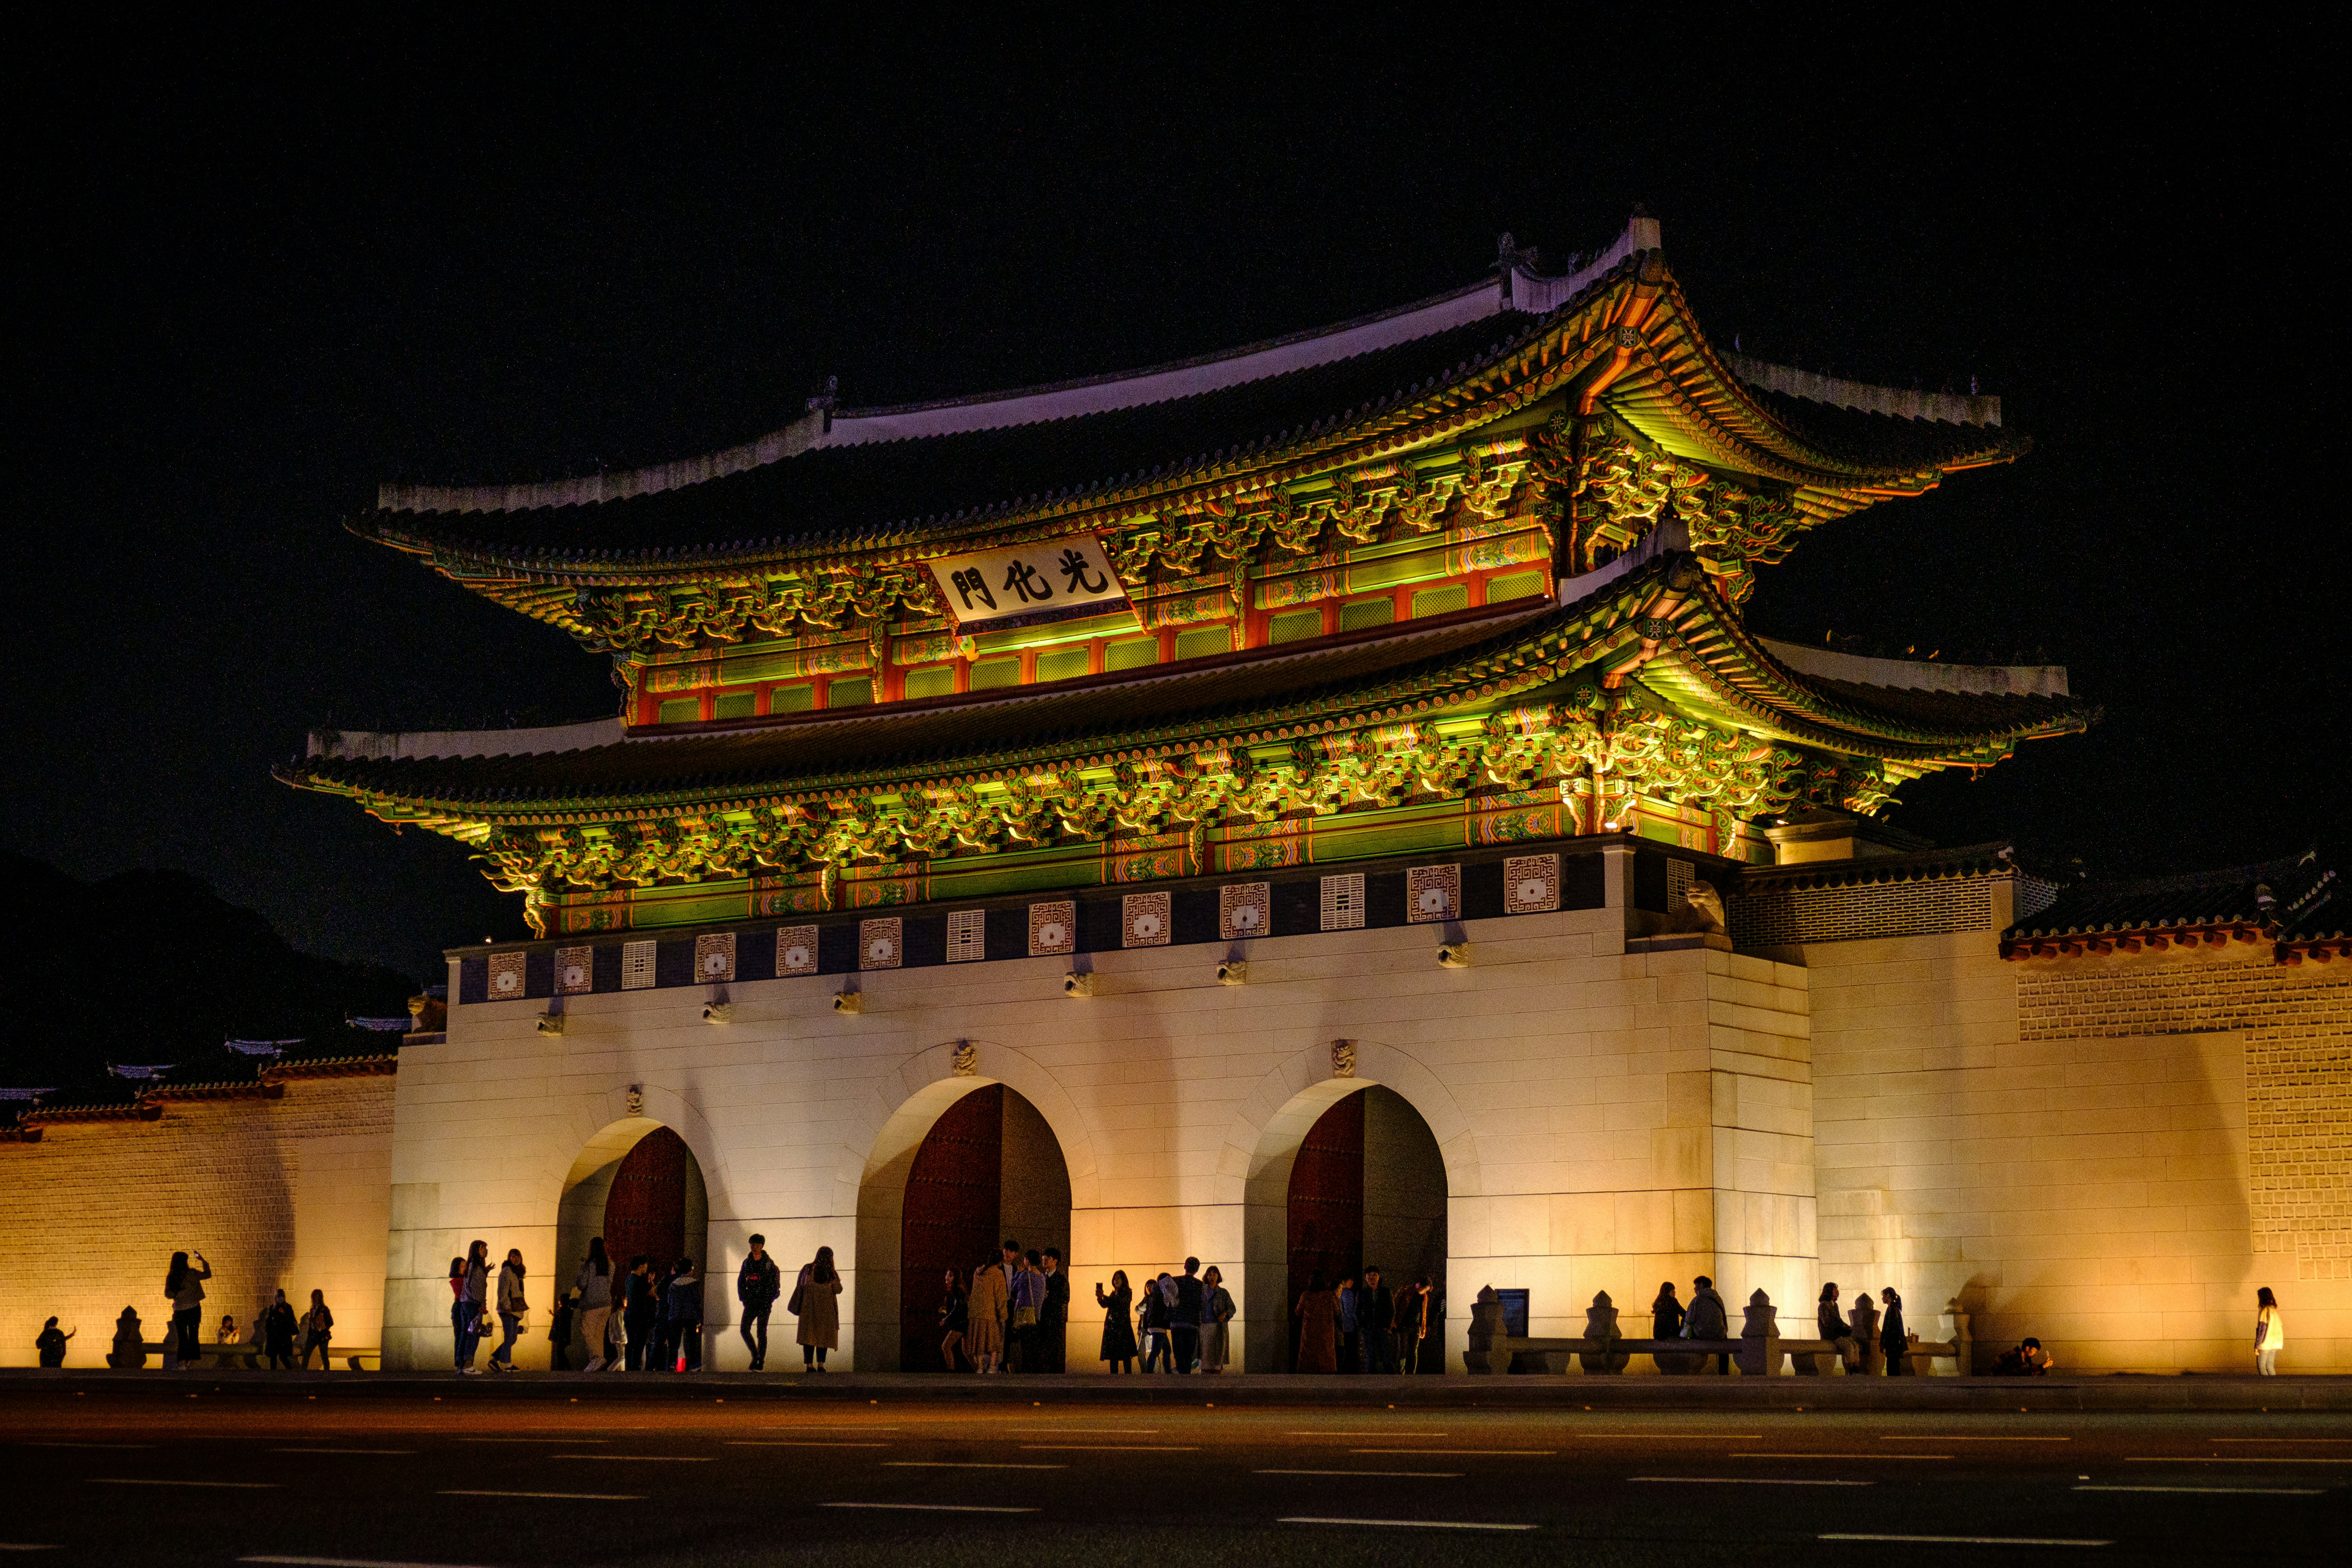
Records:
{"label": "dark mountain silhouette behind the left wall", "polygon": [[212,1053],[226,1037],[350,1037],[346,1016],[397,1018],[416,992],[390,969],[296,952],[198,877],[89,884],[12,853],[0,853],[0,1086],[28,1088]]}

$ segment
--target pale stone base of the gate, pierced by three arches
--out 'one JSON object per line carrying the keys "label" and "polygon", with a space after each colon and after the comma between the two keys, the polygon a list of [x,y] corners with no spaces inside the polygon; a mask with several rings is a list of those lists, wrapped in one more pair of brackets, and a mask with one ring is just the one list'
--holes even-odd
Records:
{"label": "pale stone base of the gate, pierced by three arches", "polygon": [[[1621,891],[1628,858],[1611,856]],[[1058,959],[877,971],[858,976],[858,1016],[833,1011],[840,978],[739,983],[727,1025],[701,1023],[708,987],[614,992],[564,999],[560,1037],[534,1030],[543,1001],[459,1006],[447,1044],[402,1056],[386,1335],[445,1361],[447,1260],[473,1237],[546,1276],[564,1173],[642,1084],[710,1192],[715,1366],[743,1361],[722,1324],[755,1229],[786,1272],[835,1248],[840,1363],[856,1366],[851,1326],[884,1316],[856,1302],[858,1187],[903,1168],[931,1114],[903,1112],[953,1077],[960,1039],[1063,1147],[1075,1302],[1115,1267],[1197,1255],[1242,1305],[1244,1366],[1265,1363],[1287,1307],[1291,1154],[1359,1084],[1397,1091],[1444,1154],[1454,1366],[1482,1284],[1529,1286],[1538,1333],[1581,1328],[1599,1288],[1646,1302],[1668,1276],[1778,1298],[1811,1279],[1804,971],[1628,954],[1623,929],[1623,896],[1470,922],[1470,969],[1437,966],[1437,926],[1265,938],[1249,985],[1218,985],[1216,947],[1101,952],[1089,999],[1063,994]],[[1334,1039],[1357,1041],[1355,1079],[1334,1079]],[[896,1267],[887,1248],[873,1269]],[[1096,1338],[1073,1307],[1073,1371],[1098,1368]]]}

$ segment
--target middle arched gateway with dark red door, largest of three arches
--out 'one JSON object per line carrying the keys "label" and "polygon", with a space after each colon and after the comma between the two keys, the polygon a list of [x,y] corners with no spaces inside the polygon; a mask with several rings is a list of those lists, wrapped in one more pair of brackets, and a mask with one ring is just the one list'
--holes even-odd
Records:
{"label": "middle arched gateway with dark red door, largest of three arches", "polygon": [[946,1371],[943,1274],[969,1288],[1007,1237],[1070,1253],[1070,1168],[1054,1128],[1004,1084],[924,1088],[891,1117],[858,1185],[858,1366]]}

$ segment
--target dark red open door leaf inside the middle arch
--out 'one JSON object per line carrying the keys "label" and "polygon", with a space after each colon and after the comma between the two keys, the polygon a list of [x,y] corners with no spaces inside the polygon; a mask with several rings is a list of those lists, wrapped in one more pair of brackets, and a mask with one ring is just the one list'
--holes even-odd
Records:
{"label": "dark red open door leaf inside the middle arch", "polygon": [[931,1124],[906,1173],[898,1227],[898,1368],[941,1371],[941,1276],[955,1269],[969,1291],[971,1269],[997,1255],[1004,1185],[1004,1086],[974,1088]]}

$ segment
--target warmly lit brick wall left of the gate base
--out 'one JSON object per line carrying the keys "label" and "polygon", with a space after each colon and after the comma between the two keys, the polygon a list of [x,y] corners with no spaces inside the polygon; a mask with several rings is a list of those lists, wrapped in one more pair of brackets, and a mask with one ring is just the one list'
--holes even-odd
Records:
{"label": "warmly lit brick wall left of the gate base", "polygon": [[174,1251],[212,1262],[207,1345],[223,1314],[242,1333],[285,1288],[296,1309],[325,1291],[336,1342],[374,1347],[390,1159],[388,1077],[296,1079],[280,1100],[179,1100],[160,1121],[49,1126],[40,1143],[0,1145],[0,1366],[33,1366],[52,1314],[80,1328],[66,1366],[106,1366],[122,1307],[160,1342]]}

